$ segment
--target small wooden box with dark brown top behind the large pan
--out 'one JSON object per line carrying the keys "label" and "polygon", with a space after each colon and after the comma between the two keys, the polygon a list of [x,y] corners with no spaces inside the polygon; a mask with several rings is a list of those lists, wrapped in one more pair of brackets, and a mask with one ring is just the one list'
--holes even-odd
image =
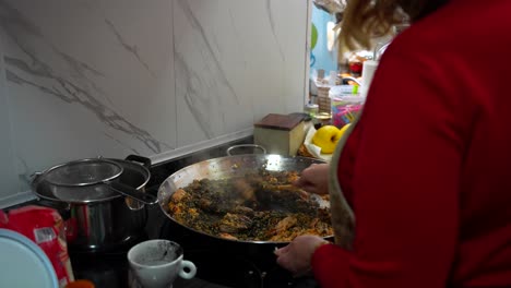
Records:
{"label": "small wooden box with dark brown top behind the large pan", "polygon": [[304,117],[270,113],[254,124],[253,140],[269,154],[296,156],[305,141]]}

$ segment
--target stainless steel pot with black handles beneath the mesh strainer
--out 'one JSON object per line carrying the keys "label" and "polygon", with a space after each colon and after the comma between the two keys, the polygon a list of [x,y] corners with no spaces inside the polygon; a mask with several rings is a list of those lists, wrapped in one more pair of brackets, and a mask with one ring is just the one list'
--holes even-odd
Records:
{"label": "stainless steel pot with black handles beneath the mesh strainer", "polygon": [[[109,159],[119,164],[123,171],[119,182],[140,192],[145,191],[150,180],[151,160],[130,155],[126,160]],[[144,166],[145,165],[145,166]],[[61,214],[67,214],[67,239],[72,251],[105,251],[130,242],[139,237],[145,227],[147,211],[141,203],[111,192],[98,193],[94,188],[81,188],[76,199],[63,199],[48,188],[44,172],[37,173],[32,181],[34,193],[45,200]]]}

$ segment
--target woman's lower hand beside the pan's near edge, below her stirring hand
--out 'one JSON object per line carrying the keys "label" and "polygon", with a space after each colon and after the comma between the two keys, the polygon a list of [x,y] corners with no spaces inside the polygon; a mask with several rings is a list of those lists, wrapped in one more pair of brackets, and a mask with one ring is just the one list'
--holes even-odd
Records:
{"label": "woman's lower hand beside the pan's near edge, below her stirring hand", "polygon": [[302,276],[311,271],[310,262],[316,249],[325,243],[329,242],[318,236],[298,236],[288,245],[275,251],[276,262],[295,277]]}

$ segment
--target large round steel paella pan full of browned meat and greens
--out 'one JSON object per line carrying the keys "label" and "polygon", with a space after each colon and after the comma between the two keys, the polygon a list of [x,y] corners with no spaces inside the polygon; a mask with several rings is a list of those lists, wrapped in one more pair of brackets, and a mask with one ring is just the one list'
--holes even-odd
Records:
{"label": "large round steel paella pan full of browned meat and greens", "polygon": [[166,216],[194,232],[225,241],[285,243],[298,235],[333,235],[329,201],[290,183],[307,157],[236,155],[200,161],[159,187]]}

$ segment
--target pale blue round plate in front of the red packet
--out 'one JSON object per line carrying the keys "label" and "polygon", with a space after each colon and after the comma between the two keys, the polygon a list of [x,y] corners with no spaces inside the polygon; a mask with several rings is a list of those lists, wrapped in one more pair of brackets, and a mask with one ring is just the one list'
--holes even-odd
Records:
{"label": "pale blue round plate in front of the red packet", "polygon": [[0,229],[0,287],[59,287],[50,260],[25,236]]}

